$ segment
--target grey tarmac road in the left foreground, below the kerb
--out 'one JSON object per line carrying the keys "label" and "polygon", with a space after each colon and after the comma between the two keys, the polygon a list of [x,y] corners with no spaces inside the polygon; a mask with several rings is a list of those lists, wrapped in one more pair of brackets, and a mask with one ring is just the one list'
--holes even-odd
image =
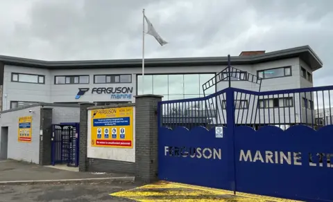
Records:
{"label": "grey tarmac road in the left foreground, below the kerb", "polygon": [[90,201],[132,201],[113,192],[130,190],[140,186],[137,183],[56,183],[35,185],[0,185],[1,202],[90,202]]}

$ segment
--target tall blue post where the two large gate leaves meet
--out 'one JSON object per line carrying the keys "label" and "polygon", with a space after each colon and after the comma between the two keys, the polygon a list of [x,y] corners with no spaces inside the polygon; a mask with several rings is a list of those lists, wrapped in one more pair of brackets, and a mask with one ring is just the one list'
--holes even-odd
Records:
{"label": "tall blue post where the two large gate leaves meet", "polygon": [[234,89],[229,87],[225,91],[226,94],[226,103],[225,108],[227,112],[227,128],[226,128],[226,138],[230,140],[230,144],[228,144],[228,165],[230,170],[228,170],[228,173],[230,173],[230,182],[232,183],[231,187],[234,191],[234,194],[236,194],[236,166],[235,166],[235,151],[234,151]]}

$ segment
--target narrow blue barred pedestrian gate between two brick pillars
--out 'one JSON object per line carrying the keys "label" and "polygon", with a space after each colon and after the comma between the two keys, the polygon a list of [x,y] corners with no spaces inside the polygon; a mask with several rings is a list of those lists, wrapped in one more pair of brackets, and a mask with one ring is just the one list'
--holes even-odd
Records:
{"label": "narrow blue barred pedestrian gate between two brick pillars", "polygon": [[79,123],[53,125],[51,164],[78,167],[79,137]]}

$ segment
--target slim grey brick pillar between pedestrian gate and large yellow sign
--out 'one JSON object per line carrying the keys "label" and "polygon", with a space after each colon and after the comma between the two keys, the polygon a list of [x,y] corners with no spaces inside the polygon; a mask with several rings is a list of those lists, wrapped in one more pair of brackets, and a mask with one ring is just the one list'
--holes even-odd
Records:
{"label": "slim grey brick pillar between pedestrian gate and large yellow sign", "polygon": [[94,107],[94,103],[80,103],[80,152],[78,155],[78,171],[87,171],[87,134],[88,134],[88,107]]}

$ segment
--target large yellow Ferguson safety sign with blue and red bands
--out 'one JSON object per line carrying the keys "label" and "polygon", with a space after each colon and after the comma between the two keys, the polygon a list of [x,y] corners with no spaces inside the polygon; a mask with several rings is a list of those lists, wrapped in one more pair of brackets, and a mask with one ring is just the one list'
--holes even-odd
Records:
{"label": "large yellow Ferguson safety sign with blue and red bands", "polygon": [[92,110],[92,147],[133,148],[133,107]]}

